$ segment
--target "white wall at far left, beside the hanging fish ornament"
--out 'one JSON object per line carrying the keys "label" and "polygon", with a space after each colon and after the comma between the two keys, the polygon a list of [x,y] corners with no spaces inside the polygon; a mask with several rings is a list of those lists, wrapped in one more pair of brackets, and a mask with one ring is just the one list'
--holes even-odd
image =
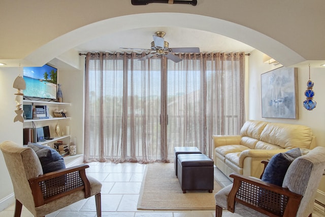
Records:
{"label": "white wall at far left, beside the hanging fish ornament", "polygon": [[[14,89],[12,85],[18,74],[18,67],[0,68],[0,101],[2,104],[0,110],[0,120],[2,124],[0,142],[12,140],[18,144],[22,144],[23,141],[22,123],[14,123],[14,117],[16,115],[14,112],[16,110],[16,95],[14,95],[14,93],[16,93],[17,90]],[[14,202],[13,187],[2,152],[0,152],[0,165],[0,210],[2,210],[10,205],[10,203]],[[9,200],[8,197],[10,197]]]}

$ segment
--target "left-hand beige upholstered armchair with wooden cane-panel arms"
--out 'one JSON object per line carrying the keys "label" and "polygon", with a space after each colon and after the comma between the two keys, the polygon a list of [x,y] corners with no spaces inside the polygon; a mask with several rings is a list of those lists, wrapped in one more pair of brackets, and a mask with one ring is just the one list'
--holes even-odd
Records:
{"label": "left-hand beige upholstered armchair with wooden cane-panel arms", "polygon": [[0,144],[13,183],[20,216],[24,205],[34,216],[45,216],[79,200],[95,195],[97,216],[101,216],[101,188],[98,180],[87,177],[88,165],[80,165],[43,174],[36,153],[12,141]]}

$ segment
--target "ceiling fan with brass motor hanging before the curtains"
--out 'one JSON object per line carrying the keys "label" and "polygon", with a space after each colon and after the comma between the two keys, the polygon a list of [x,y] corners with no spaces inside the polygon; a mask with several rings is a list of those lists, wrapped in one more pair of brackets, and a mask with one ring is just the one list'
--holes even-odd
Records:
{"label": "ceiling fan with brass motor hanging before the curtains", "polygon": [[156,31],[155,35],[152,35],[153,42],[151,42],[151,49],[142,49],[142,48],[121,48],[121,49],[129,49],[129,50],[144,50],[149,51],[149,54],[140,58],[139,60],[149,59],[154,55],[164,55],[168,59],[174,62],[182,61],[181,58],[175,56],[173,53],[200,53],[200,48],[170,48],[169,43],[164,40],[166,32],[164,31]]}

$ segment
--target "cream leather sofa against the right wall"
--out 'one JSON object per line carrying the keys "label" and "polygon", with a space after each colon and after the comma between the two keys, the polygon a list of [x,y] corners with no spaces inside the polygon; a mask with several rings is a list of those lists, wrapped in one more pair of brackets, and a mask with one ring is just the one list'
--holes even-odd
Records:
{"label": "cream leather sofa against the right wall", "polygon": [[309,127],[295,124],[247,121],[240,135],[213,135],[214,164],[226,176],[233,172],[259,178],[262,160],[289,149],[303,152],[315,147],[316,139]]}

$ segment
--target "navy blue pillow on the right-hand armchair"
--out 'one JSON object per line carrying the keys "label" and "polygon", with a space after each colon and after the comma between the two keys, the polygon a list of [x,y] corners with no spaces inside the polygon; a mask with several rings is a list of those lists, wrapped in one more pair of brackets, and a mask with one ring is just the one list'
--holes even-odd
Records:
{"label": "navy blue pillow on the right-hand armchair", "polygon": [[274,155],[265,168],[262,181],[282,186],[288,167],[290,166],[291,162],[300,156],[301,151],[299,148],[291,149],[287,152]]}

